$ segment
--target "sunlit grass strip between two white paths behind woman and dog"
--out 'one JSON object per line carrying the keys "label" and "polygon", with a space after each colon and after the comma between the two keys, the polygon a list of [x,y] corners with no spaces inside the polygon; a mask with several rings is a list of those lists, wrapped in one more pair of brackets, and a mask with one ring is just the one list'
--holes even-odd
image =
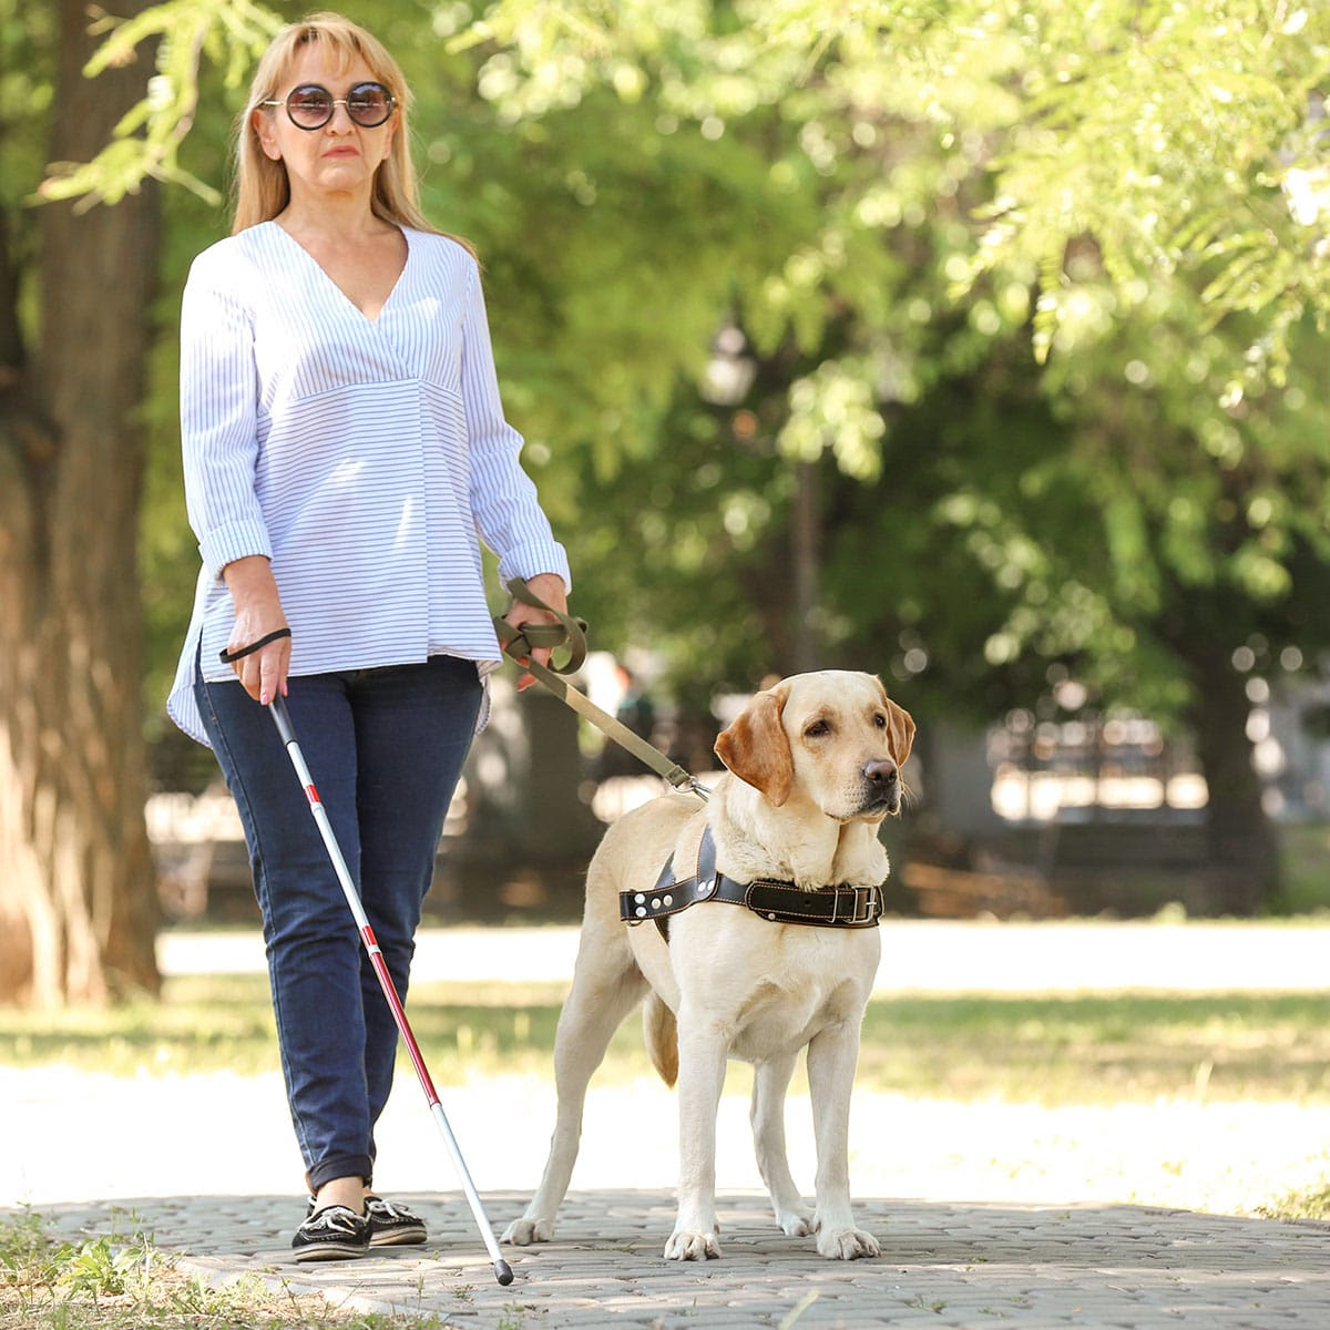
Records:
{"label": "sunlit grass strip between two white paths behind woman and dog", "polygon": [[[552,1069],[561,984],[419,984],[411,1024],[440,1085]],[[116,1075],[275,1071],[267,982],[188,976],[161,1003],[0,1008],[0,1064]],[[598,1084],[652,1069],[634,1017]],[[857,1084],[960,1101],[1162,1097],[1330,1103],[1330,994],[892,996],[868,1005]]]}

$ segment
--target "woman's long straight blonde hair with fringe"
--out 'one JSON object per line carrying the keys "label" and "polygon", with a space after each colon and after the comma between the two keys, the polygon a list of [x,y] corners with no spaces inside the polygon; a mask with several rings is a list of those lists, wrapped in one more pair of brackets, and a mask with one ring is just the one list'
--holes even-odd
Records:
{"label": "woman's long straight blonde hair with fringe", "polygon": [[[275,109],[262,104],[275,98],[277,89],[286,80],[301,49],[311,43],[325,44],[340,69],[346,69],[358,59],[363,60],[374,77],[392,93],[396,104],[396,133],[392,136],[388,156],[374,173],[374,193],[370,201],[374,215],[394,226],[432,231],[436,235],[446,234],[432,226],[420,210],[420,186],[407,133],[411,92],[402,69],[376,37],[338,13],[314,13],[282,28],[254,70],[249,101],[235,124],[235,211],[231,218],[231,234],[257,226],[259,222],[270,222],[290,201],[291,186],[286,164],[273,161],[261,148],[258,130],[254,128],[254,112]],[[451,239],[458,239],[475,254],[469,242],[459,237]]]}

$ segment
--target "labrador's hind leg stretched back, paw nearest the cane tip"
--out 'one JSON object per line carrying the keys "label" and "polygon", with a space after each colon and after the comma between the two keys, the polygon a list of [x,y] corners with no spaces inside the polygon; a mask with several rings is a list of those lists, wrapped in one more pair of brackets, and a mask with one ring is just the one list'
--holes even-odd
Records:
{"label": "labrador's hind leg stretched back, paw nearest the cane tip", "polygon": [[513,1220],[504,1230],[503,1241],[516,1246],[548,1242],[553,1237],[555,1214],[568,1192],[581,1141],[587,1085],[604,1060],[614,1031],[646,991],[646,980],[626,946],[621,955],[614,956],[616,960],[626,959],[626,967],[618,968],[617,974],[605,974],[604,959],[579,954],[572,992],[559,1016],[555,1033],[555,1088],[559,1096],[555,1133],[540,1188],[521,1218]]}

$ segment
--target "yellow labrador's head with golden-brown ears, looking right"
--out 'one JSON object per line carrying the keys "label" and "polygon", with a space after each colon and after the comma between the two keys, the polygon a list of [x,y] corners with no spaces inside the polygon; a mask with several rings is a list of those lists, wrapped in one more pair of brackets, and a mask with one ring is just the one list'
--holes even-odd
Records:
{"label": "yellow labrador's head with golden-brown ears, looking right", "polygon": [[797,790],[838,822],[880,822],[900,811],[914,732],[875,676],[819,670],[758,693],[717,738],[716,755],[775,807]]}

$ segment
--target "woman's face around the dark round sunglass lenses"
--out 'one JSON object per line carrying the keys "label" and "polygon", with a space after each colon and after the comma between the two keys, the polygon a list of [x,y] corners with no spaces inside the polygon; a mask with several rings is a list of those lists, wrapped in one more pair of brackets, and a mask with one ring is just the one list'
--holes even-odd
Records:
{"label": "woman's face around the dark round sunglass lenses", "polygon": [[[372,129],[358,125],[342,100],[356,84],[375,82],[378,76],[359,56],[338,69],[335,55],[323,43],[301,47],[286,78],[273,93],[273,100],[283,105],[259,106],[253,116],[263,152],[286,166],[291,182],[291,201],[302,197],[317,198],[330,194],[368,193],[374,173],[388,156],[398,125],[398,110]],[[318,129],[302,129],[291,122],[286,112],[286,97],[293,88],[319,84],[338,104],[332,117]]]}

